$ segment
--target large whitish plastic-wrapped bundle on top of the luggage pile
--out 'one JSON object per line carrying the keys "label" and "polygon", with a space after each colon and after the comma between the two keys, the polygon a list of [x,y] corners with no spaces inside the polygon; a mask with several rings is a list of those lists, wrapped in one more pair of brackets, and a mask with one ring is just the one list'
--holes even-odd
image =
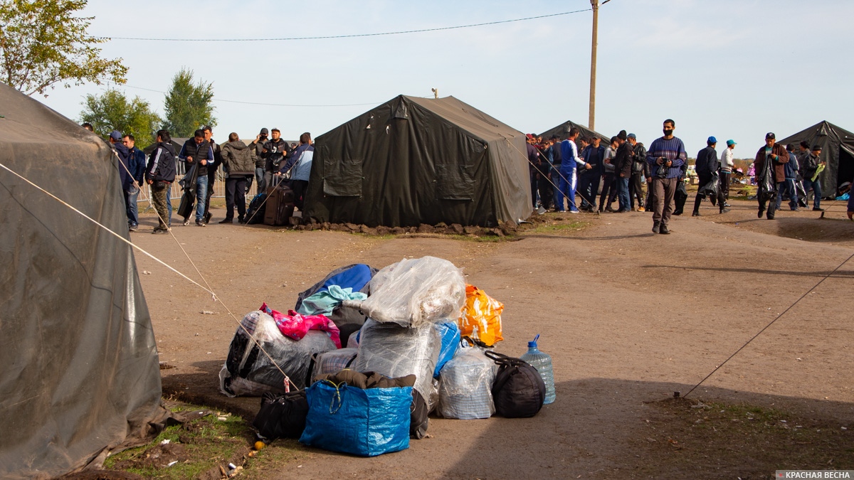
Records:
{"label": "large whitish plastic-wrapped bundle on top of the luggage pile", "polygon": [[456,319],[465,304],[463,273],[453,263],[431,256],[386,266],[369,286],[366,301],[344,304],[359,307],[380,323],[414,327]]}

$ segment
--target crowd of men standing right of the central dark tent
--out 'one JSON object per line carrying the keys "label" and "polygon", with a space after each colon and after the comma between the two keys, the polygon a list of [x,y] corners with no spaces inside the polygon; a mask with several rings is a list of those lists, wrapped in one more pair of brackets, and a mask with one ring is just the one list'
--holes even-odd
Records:
{"label": "crowd of men standing right of the central dark tent", "polygon": [[[570,129],[563,141],[559,136],[542,139],[527,135],[528,160],[531,183],[531,201],[541,214],[553,209],[577,214],[595,212],[599,193],[599,212],[625,213],[652,211],[652,232],[670,233],[670,217],[682,213],[687,199],[684,181],[687,175],[685,144],[673,135],[674,120],[664,120],[663,137],[655,139],[649,149],[637,141],[634,133],[621,131],[611,142],[601,145],[602,139],[593,135],[582,137],[576,127]],[[699,207],[706,196],[717,205],[720,214],[729,211],[729,184],[734,168],[733,151],[737,143],[730,139],[718,158],[717,138],[709,137],[705,149],[697,154],[695,169],[699,189],[694,198],[693,216],[699,216]],[[765,136],[765,146],[759,149],[754,161],[759,181],[757,200],[758,216],[766,214],[775,218],[784,195],[789,206],[798,211],[806,206],[806,194],[814,193],[813,210],[822,211],[822,189],[818,174],[824,163],[820,160],[822,147],[800,143],[798,153],[794,145],[783,148],[775,144],[775,134]],[[642,185],[646,183],[646,196]],[[677,191],[681,187],[681,198]],[[580,197],[580,208],[576,205]],[[617,200],[617,209],[613,202]],[[635,208],[635,203],[637,207]],[[854,202],[849,203],[848,217],[854,214]]]}

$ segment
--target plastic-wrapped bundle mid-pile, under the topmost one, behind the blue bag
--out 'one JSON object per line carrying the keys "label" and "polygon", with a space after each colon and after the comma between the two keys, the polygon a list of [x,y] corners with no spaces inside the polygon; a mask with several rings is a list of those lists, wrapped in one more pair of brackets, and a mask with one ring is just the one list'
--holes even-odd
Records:
{"label": "plastic-wrapped bundle mid-pile, under the topmost one, behind the blue bag", "polygon": [[432,324],[406,328],[368,319],[362,326],[359,356],[352,368],[389,378],[415,375],[415,389],[430,399],[433,371],[441,349],[442,337]]}

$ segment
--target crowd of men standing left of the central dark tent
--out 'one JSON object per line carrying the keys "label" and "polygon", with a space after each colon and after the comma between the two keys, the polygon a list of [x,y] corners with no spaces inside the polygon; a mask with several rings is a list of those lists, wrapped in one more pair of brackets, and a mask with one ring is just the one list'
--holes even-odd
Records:
{"label": "crowd of men standing left of the central dark tent", "polygon": [[[83,127],[92,130],[89,124]],[[178,182],[183,190],[178,216],[184,225],[190,225],[191,218],[197,226],[210,222],[210,200],[220,168],[225,178],[225,219],[219,223],[234,223],[237,209],[237,222],[243,224],[249,221],[246,193],[253,181],[257,182],[259,192],[266,192],[268,187],[276,184],[286,184],[294,192],[295,207],[302,209],[314,152],[310,133],[303,133],[299,144],[289,145],[278,128],[262,128],[249,144],[231,132],[228,142],[219,144],[213,140],[213,129],[202,126],[177,152],[170,133],[161,130],[156,133],[156,143],[150,155],[136,148],[132,135],[110,132],[109,143],[121,164],[120,179],[125,192],[128,229],[137,231],[139,227],[137,197],[140,187],[148,184],[151,202],[159,218],[157,227],[152,231],[155,234],[167,233],[172,226],[173,208],[169,193],[177,176],[177,161],[184,163],[186,171]]]}

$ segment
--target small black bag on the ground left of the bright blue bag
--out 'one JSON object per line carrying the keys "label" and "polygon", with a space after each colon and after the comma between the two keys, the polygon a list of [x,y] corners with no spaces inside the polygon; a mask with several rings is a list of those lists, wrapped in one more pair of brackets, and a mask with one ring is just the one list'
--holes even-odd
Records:
{"label": "small black bag on the ground left of the bright blue bag", "polygon": [[306,390],[287,394],[266,393],[261,397],[261,408],[252,426],[260,436],[269,440],[299,438],[306,429],[308,400]]}

